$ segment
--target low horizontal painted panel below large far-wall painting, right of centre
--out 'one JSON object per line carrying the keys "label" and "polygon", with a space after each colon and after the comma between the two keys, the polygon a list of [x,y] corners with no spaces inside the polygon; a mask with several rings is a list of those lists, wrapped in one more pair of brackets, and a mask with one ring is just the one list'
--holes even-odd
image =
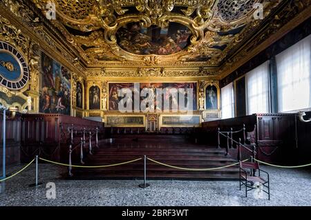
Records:
{"label": "low horizontal painted panel below large far-wall painting, right of centre", "polygon": [[198,115],[162,116],[162,127],[168,126],[198,126],[201,117]]}

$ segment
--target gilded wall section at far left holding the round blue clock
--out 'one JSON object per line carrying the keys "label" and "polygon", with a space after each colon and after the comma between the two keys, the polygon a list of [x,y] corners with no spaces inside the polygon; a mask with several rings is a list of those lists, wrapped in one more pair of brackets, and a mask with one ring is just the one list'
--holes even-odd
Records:
{"label": "gilded wall section at far left holding the round blue clock", "polygon": [[37,43],[0,15],[0,96],[7,108],[36,112],[39,108]]}

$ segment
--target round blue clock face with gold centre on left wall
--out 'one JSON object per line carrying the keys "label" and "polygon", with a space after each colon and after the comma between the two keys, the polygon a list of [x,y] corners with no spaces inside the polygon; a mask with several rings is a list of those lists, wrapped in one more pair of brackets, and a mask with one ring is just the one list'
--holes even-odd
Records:
{"label": "round blue clock face with gold centre on left wall", "polygon": [[29,80],[26,59],[10,44],[0,41],[0,85],[20,90]]}

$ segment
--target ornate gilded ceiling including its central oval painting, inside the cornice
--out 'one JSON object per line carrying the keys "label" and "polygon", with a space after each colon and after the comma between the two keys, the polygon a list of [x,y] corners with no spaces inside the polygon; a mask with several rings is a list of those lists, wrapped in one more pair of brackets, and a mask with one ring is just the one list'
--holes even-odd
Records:
{"label": "ornate gilded ceiling including its central oval painting, inside the cornice", "polygon": [[[86,67],[219,67],[281,1],[32,0],[46,13]],[[258,5],[261,3],[261,5]],[[256,11],[257,10],[257,11]]]}

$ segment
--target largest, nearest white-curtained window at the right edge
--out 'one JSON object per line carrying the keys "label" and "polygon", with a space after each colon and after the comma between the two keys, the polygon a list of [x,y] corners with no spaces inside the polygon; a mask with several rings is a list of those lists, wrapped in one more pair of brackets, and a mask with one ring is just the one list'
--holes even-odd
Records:
{"label": "largest, nearest white-curtained window at the right edge", "polygon": [[279,112],[311,108],[311,35],[276,55]]}

